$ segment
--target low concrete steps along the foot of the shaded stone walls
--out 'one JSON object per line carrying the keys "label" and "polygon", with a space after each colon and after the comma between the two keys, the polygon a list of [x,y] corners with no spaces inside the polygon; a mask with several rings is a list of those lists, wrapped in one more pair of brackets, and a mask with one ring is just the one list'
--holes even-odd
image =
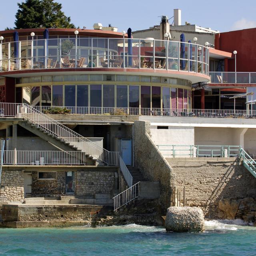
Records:
{"label": "low concrete steps along the foot of the shaded stone walls", "polygon": [[60,196],[58,198],[30,197],[25,198],[23,204],[27,205],[56,205],[56,204],[90,204],[90,205],[113,205],[111,194],[95,194],[94,196]]}

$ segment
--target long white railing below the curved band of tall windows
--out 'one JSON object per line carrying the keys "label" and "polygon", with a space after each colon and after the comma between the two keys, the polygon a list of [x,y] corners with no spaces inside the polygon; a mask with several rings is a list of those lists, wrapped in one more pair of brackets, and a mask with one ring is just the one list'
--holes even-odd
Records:
{"label": "long white railing below the curved band of tall windows", "polygon": [[234,109],[178,109],[178,108],[117,108],[117,107],[65,107],[65,106],[35,106],[44,112],[49,108],[66,108],[70,114],[82,115],[130,115],[130,116],[181,116],[208,118],[256,118],[256,110]]}

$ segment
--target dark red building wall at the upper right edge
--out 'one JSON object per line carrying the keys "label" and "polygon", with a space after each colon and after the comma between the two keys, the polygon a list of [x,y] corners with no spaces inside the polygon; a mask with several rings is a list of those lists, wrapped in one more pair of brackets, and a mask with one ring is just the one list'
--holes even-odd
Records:
{"label": "dark red building wall at the upper right edge", "polygon": [[[256,28],[216,34],[215,47],[226,52],[237,51],[237,72],[256,72]],[[234,59],[228,60],[228,71],[235,71]]]}

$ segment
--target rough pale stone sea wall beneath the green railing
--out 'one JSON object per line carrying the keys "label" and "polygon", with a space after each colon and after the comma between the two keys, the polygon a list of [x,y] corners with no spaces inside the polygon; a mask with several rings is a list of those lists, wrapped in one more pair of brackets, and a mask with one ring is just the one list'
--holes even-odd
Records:
{"label": "rough pale stone sea wall beneath the green railing", "polygon": [[207,218],[231,216],[222,209],[224,198],[230,201],[256,196],[256,179],[235,158],[169,158],[168,162],[175,173],[176,187],[186,188],[187,205],[200,206]]}

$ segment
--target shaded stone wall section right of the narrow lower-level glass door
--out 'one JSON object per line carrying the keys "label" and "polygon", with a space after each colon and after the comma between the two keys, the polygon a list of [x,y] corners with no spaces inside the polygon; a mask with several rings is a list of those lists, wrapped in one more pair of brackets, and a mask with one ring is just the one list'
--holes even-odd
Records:
{"label": "shaded stone wall section right of the narrow lower-level glass door", "polygon": [[115,171],[77,171],[76,195],[93,196],[96,193],[110,193],[115,189]]}

